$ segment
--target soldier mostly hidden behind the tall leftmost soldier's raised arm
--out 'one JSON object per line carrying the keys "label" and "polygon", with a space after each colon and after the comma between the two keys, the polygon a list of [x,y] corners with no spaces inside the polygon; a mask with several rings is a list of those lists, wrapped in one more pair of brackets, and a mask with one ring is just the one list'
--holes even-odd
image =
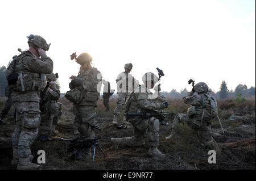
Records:
{"label": "soldier mostly hidden behind the tall leftmost soldier's raised arm", "polygon": [[57,134],[55,127],[61,116],[60,88],[56,84],[56,75],[54,73],[47,75],[47,86],[41,91],[41,125],[40,136],[50,136]]}

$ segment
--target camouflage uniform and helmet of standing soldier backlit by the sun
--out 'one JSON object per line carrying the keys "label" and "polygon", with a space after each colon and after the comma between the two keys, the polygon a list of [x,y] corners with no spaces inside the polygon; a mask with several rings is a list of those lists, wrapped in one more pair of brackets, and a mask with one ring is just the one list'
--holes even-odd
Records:
{"label": "camouflage uniform and helmet of standing soldier backlit by the sun", "polygon": [[[87,53],[82,53],[77,62],[82,64],[89,64],[92,58]],[[96,68],[90,68],[89,70],[82,70],[80,68],[79,75],[75,81],[80,81],[79,90],[82,94],[82,99],[79,103],[74,103],[73,113],[75,113],[75,120],[73,123],[74,134],[79,132],[81,136],[87,138],[94,138],[95,134],[92,126],[96,124],[96,107],[97,100],[100,96],[97,87],[101,82],[101,73]],[[73,82],[74,80],[72,80]],[[71,83],[72,83],[71,82]],[[72,87],[71,87],[72,88]],[[76,129],[78,129],[76,131]]]}

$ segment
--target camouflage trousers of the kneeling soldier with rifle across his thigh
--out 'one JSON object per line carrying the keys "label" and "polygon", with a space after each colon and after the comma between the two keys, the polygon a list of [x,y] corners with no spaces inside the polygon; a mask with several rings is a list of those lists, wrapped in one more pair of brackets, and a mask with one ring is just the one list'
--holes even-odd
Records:
{"label": "camouflage trousers of the kneeling soldier with rifle across his thigh", "polygon": [[159,120],[155,117],[150,119],[131,119],[133,136],[121,138],[123,146],[143,146],[147,138],[148,145],[159,146]]}

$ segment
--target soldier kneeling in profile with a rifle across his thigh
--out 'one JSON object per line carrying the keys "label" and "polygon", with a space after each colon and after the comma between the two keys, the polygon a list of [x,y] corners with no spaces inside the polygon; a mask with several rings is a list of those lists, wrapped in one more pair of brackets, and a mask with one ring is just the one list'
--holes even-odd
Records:
{"label": "soldier kneeling in profile with a rifle across his thigh", "polygon": [[129,95],[125,103],[125,112],[127,120],[133,125],[133,136],[123,138],[111,138],[114,145],[122,146],[143,146],[145,136],[147,137],[150,149],[148,153],[151,156],[164,157],[164,154],[158,150],[159,146],[159,120],[154,116],[129,116],[129,113],[143,113],[147,115],[150,112],[156,112],[168,107],[168,102],[156,103],[155,98],[149,89],[158,82],[158,77],[148,72],[143,75],[143,85],[139,86]]}

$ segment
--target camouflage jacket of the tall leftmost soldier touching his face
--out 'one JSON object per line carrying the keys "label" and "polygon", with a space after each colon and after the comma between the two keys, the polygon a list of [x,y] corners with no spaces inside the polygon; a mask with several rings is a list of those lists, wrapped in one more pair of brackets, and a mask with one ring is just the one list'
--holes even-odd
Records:
{"label": "camouflage jacket of the tall leftmost soldier touching his face", "polygon": [[[16,66],[14,68],[15,60]],[[21,53],[18,58],[14,58],[14,60],[11,61],[6,71],[6,77],[13,73],[14,69],[15,73],[22,74],[23,84],[26,89],[24,91],[18,91],[20,86],[19,81],[11,85],[10,88],[13,90],[13,102],[40,102],[40,89],[42,90],[46,86],[46,84],[44,87],[42,86],[44,84],[42,74],[50,74],[53,70],[51,58],[47,56],[39,58],[31,52],[26,51]],[[39,89],[32,89],[32,87],[39,87],[39,85]]]}

